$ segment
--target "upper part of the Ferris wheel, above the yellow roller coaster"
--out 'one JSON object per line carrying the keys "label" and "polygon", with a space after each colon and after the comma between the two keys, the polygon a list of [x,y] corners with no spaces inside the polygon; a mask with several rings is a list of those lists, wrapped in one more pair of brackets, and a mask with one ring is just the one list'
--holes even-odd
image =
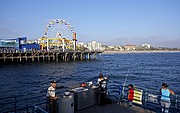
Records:
{"label": "upper part of the Ferris wheel, above the yellow roller coaster", "polygon": [[66,20],[56,19],[48,23],[45,29],[47,38],[73,39],[74,29]]}

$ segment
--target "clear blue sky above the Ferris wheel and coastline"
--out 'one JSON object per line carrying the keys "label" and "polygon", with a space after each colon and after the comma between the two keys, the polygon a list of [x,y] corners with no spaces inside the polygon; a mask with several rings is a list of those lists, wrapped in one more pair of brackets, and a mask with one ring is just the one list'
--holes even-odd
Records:
{"label": "clear blue sky above the Ferris wheel and coastline", "polygon": [[180,47],[180,0],[0,0],[0,38],[40,38],[54,19],[78,42]]}

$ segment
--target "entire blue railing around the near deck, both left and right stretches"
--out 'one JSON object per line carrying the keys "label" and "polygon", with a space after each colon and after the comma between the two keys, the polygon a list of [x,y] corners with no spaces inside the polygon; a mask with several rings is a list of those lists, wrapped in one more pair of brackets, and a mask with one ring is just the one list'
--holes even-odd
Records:
{"label": "entire blue railing around the near deck, both left and right stretches", "polygon": [[[118,103],[127,102],[128,86],[108,82],[108,97]],[[180,113],[180,95],[171,95],[171,113]],[[133,104],[155,112],[161,112],[158,90],[135,87]],[[45,92],[0,98],[0,113],[47,113]]]}

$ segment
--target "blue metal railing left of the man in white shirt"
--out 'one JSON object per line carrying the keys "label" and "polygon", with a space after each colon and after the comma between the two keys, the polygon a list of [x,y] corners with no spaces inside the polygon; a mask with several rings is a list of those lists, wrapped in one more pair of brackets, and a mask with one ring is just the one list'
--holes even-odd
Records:
{"label": "blue metal railing left of the man in white shirt", "polygon": [[[36,103],[33,105],[33,103]],[[34,106],[41,106],[47,109],[46,97],[44,95],[32,94],[0,98],[0,113],[29,113],[34,110]],[[39,108],[39,107],[37,107]]]}

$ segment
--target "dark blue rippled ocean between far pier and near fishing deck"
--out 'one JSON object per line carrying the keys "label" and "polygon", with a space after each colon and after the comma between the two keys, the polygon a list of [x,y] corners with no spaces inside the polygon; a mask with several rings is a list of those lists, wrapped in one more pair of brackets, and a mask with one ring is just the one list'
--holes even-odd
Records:
{"label": "dark blue rippled ocean between far pier and near fishing deck", "polygon": [[99,73],[109,80],[159,90],[166,82],[180,95],[180,52],[102,54],[92,61],[0,65],[0,97],[43,93],[50,81],[71,86],[93,81]]}

